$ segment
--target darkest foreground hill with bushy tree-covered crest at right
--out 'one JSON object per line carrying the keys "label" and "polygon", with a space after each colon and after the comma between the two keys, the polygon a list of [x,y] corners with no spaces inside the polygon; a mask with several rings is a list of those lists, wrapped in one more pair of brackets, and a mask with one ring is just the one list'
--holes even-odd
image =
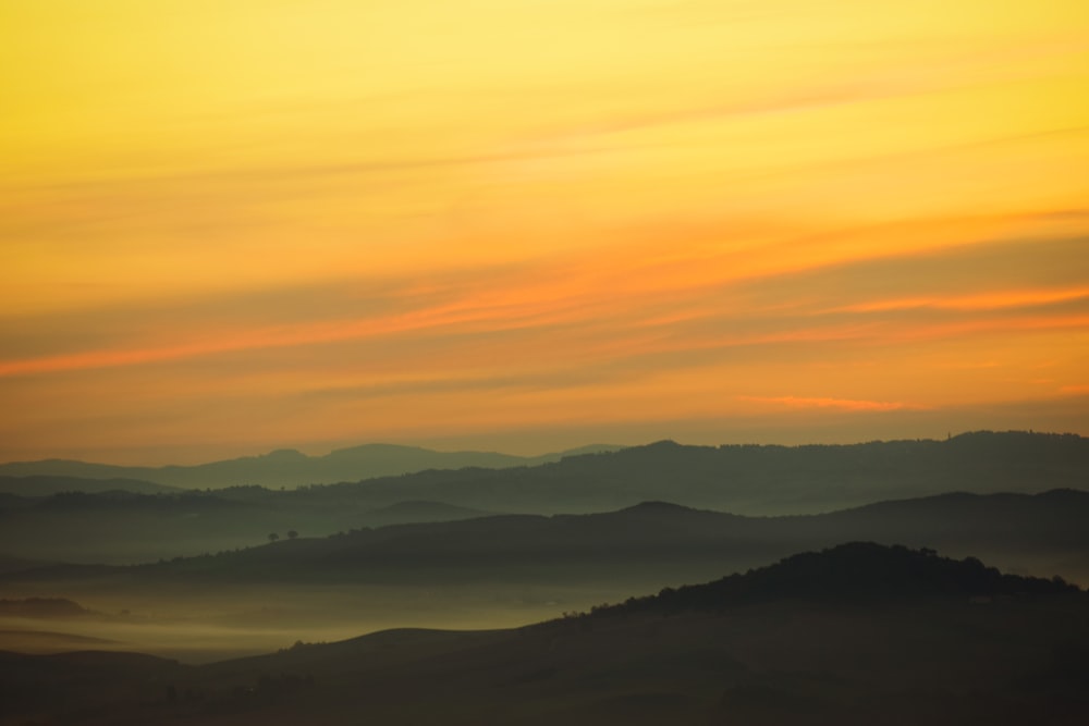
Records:
{"label": "darkest foreground hill with bushy tree-covered crest at right", "polygon": [[4,723],[1084,724],[1089,602],[848,544],[503,631],[391,630],[185,666],[0,655]]}

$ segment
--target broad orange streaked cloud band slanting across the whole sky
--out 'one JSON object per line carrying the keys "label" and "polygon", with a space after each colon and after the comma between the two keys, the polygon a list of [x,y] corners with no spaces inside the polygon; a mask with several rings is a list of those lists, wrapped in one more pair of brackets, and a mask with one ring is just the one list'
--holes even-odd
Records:
{"label": "broad orange streaked cloud band slanting across the whole sky", "polygon": [[[787,248],[802,242],[783,243]],[[905,344],[951,336],[1076,330],[1086,325],[1089,288],[1002,286],[958,293],[972,269],[1007,275],[1077,278],[1077,243],[977,243],[928,256],[780,260],[776,246],[693,247],[648,257],[594,250],[538,264],[495,266],[369,288],[339,282],[125,309],[0,322],[10,345],[0,377],[258,353],[287,347],[365,344],[415,336],[529,365],[544,355],[570,361],[622,361],[700,350],[783,344]],[[633,251],[629,249],[628,251]],[[1016,254],[1013,254],[1015,253]],[[1048,255],[1053,255],[1049,258]],[[848,260],[848,261],[844,261]],[[867,281],[872,279],[871,286]],[[921,283],[919,281],[922,281]],[[926,286],[933,294],[905,295]],[[872,290],[871,290],[872,287]],[[843,298],[854,297],[854,302]],[[839,299],[837,299],[839,298]],[[859,299],[860,298],[860,299]],[[112,320],[112,322],[111,322]],[[63,339],[40,339],[42,325]],[[99,340],[86,331],[97,330]],[[41,341],[68,349],[35,354]],[[20,342],[25,341],[25,342]],[[20,349],[25,353],[19,354]],[[460,354],[461,355],[461,354]],[[467,355],[467,354],[466,354]],[[465,358],[467,360],[467,358]],[[418,366],[408,362],[407,366]]]}

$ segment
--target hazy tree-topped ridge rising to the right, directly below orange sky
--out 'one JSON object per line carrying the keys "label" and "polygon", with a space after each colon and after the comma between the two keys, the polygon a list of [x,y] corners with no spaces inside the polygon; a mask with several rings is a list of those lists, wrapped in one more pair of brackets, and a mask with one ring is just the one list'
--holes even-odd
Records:
{"label": "hazy tree-topped ridge rising to the right, directly below orange sky", "polygon": [[444,502],[491,512],[575,514],[665,500],[741,514],[815,514],[950,491],[1084,487],[1089,440],[978,432],[949,441],[844,446],[683,446],[659,442],[510,469],[430,470],[289,492],[295,501]]}

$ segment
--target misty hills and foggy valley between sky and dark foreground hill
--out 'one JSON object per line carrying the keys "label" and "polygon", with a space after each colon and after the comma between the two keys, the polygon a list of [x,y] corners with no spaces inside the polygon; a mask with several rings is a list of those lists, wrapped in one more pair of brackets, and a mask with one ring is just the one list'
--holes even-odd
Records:
{"label": "misty hills and foggy valley between sky and dark foreground hill", "polygon": [[[0,614],[9,637],[38,633],[16,639],[34,651],[105,637],[110,650],[213,660],[388,627],[513,627],[851,541],[1089,585],[1078,488],[1089,443],[1076,435],[661,442],[296,489],[179,490],[46,473],[72,463],[11,466],[42,472],[0,479],[22,492],[0,505],[0,596],[84,608],[51,614],[50,628]],[[79,482],[90,491],[54,491]],[[143,491],[117,489],[126,482]]]}

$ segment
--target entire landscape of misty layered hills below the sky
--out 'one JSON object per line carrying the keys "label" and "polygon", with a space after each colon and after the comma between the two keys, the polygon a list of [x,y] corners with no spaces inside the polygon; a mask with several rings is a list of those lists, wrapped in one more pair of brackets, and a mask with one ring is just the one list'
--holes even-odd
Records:
{"label": "entire landscape of misty layered hills below the sky", "polygon": [[[2,465],[0,723],[862,724],[918,688],[904,723],[1086,705],[1078,435],[330,458]],[[285,483],[243,483],[278,462]]]}

